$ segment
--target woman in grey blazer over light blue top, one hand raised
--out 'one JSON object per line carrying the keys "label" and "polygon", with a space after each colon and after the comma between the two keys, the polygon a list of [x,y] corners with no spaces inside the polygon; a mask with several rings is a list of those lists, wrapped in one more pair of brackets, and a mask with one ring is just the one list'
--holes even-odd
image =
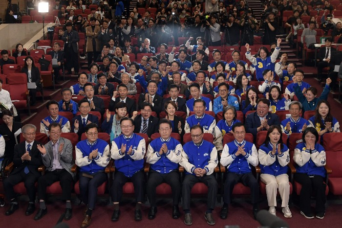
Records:
{"label": "woman in grey blazer over light blue top, one hand raised", "polygon": [[101,129],[110,135],[110,141],[120,136],[121,128],[120,121],[127,116],[127,105],[125,102],[118,102],[115,105],[115,114],[111,115],[109,110],[106,110],[106,119],[102,122]]}

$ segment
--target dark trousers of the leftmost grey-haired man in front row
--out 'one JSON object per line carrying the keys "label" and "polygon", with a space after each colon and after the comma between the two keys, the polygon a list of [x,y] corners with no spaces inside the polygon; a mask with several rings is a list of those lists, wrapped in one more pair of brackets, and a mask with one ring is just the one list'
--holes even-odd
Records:
{"label": "dark trousers of the leftmost grey-haired man in front row", "polygon": [[19,182],[24,182],[26,192],[28,195],[28,198],[30,199],[30,202],[34,202],[36,199],[36,186],[35,183],[37,182],[37,179],[39,178],[39,175],[33,174],[29,172],[28,174],[24,173],[24,170],[21,170],[21,172],[9,175],[5,180],[3,180],[3,188],[5,190],[5,194],[8,200],[12,200],[16,197],[16,193],[14,192],[14,185],[16,185]]}

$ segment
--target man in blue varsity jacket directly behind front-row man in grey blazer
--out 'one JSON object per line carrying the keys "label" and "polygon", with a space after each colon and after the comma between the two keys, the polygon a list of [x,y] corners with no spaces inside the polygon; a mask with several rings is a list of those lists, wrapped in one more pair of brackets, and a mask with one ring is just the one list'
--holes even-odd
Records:
{"label": "man in blue varsity jacket directly behind front-row man in grey blazer", "polygon": [[58,114],[59,104],[55,100],[50,100],[46,103],[46,109],[49,116],[42,119],[41,122],[41,133],[45,133],[49,136],[49,125],[51,123],[59,123],[61,124],[62,132],[68,133],[70,132],[70,122],[69,120]]}

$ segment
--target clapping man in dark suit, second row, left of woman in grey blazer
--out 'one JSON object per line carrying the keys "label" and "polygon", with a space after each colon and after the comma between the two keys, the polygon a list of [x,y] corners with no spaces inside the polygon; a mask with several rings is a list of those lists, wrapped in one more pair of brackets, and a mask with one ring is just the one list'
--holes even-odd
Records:
{"label": "clapping man in dark suit, second row, left of woman in grey blazer", "polygon": [[78,139],[81,140],[82,134],[85,132],[85,126],[89,123],[96,123],[99,126],[99,118],[96,115],[89,114],[90,105],[87,99],[82,99],[79,103],[80,115],[72,118],[71,132],[77,133]]}

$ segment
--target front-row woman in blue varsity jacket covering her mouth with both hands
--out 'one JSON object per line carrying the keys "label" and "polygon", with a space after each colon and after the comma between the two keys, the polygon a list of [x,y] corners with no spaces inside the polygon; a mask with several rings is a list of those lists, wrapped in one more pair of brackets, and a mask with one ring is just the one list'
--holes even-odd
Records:
{"label": "front-row woman in blue varsity jacket covering her mouth with both hands", "polygon": [[299,209],[307,219],[313,219],[311,211],[311,196],[315,193],[316,218],[323,219],[325,215],[325,169],[326,155],[323,146],[318,143],[318,132],[313,127],[305,129],[303,142],[296,146],[293,160],[297,163],[294,179],[301,184]]}

